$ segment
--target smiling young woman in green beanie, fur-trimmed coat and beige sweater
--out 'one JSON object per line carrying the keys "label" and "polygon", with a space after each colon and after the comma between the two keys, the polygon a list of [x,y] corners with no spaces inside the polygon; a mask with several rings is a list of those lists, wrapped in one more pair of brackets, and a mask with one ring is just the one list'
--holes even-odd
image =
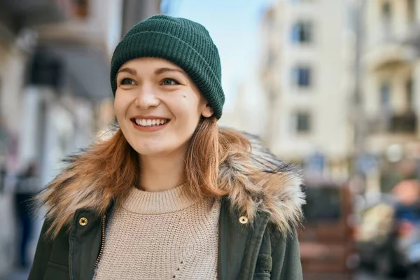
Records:
{"label": "smiling young woman in green beanie, fur-trimmed coat and beige sweater", "polygon": [[41,195],[29,279],[302,279],[301,179],[216,122],[221,63],[196,22],[155,15],[111,61],[119,129]]}

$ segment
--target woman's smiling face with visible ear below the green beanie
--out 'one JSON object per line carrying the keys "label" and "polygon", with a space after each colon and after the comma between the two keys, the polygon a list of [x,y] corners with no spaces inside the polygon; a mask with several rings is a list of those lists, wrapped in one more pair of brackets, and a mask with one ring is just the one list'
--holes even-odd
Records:
{"label": "woman's smiling face with visible ear below the green beanie", "polygon": [[185,152],[201,116],[212,109],[172,62],[142,57],[120,67],[114,107],[128,143],[141,155]]}

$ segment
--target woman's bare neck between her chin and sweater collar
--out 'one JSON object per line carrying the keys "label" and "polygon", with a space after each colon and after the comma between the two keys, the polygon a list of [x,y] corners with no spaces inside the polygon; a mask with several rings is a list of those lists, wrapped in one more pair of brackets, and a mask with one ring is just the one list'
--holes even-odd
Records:
{"label": "woman's bare neck between her chin and sweater collar", "polygon": [[171,155],[140,155],[140,186],[148,192],[170,190],[182,183],[185,151]]}

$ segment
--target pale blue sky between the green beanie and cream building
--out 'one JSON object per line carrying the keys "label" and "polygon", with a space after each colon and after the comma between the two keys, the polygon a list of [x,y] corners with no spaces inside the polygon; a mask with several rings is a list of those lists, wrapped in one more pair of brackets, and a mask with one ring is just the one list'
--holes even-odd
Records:
{"label": "pale blue sky between the green beanie and cream building", "polygon": [[209,30],[221,55],[224,110],[232,109],[237,85],[257,78],[260,18],[275,0],[166,0],[162,8],[167,1],[169,15],[194,20]]}

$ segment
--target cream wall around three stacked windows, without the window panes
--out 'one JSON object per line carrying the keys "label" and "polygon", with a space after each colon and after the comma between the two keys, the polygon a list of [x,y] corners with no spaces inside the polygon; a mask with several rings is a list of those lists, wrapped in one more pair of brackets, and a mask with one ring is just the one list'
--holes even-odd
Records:
{"label": "cream wall around three stacked windows, without the window panes", "polygon": [[[283,3],[279,17],[283,22],[281,49],[281,104],[279,132],[273,151],[286,158],[301,158],[321,151],[332,158],[349,153],[349,52],[346,36],[346,1],[319,0],[308,3]],[[290,29],[297,20],[313,22],[313,43],[294,45]],[[312,69],[312,86],[298,90],[291,83],[291,71],[296,64]],[[291,130],[291,116],[295,111],[308,111],[312,116],[312,130],[299,135]]]}

